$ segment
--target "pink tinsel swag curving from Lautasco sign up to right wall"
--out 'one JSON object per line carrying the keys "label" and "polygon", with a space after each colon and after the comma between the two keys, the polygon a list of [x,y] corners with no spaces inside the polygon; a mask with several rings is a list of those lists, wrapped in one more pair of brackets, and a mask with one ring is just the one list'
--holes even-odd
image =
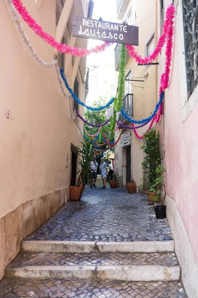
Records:
{"label": "pink tinsel swag curving from Lautasco sign up to right wall", "polygon": [[164,21],[164,25],[163,25],[163,33],[158,40],[156,48],[152,51],[152,53],[150,54],[149,57],[142,58],[141,55],[138,55],[134,46],[126,45],[129,55],[133,59],[135,59],[137,63],[148,64],[148,63],[152,63],[157,58],[157,56],[161,52],[161,50],[166,42],[166,39],[169,35],[169,31],[170,31],[170,27],[171,27],[171,24],[172,24],[172,21],[174,18],[174,14],[175,14],[175,6],[170,5],[166,10],[166,16],[165,16],[165,21]]}

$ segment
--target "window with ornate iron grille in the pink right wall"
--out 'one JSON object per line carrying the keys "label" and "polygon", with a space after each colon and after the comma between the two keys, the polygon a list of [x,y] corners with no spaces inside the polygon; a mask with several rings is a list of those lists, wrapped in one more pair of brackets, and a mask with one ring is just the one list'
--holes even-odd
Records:
{"label": "window with ornate iron grille in the pink right wall", "polygon": [[198,85],[198,1],[182,0],[188,99]]}

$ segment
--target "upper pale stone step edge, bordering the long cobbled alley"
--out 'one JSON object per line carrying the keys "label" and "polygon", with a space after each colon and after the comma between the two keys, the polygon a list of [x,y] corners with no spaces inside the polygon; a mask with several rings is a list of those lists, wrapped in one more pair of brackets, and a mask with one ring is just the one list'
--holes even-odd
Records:
{"label": "upper pale stone step edge, bordering the long cobbled alley", "polygon": [[89,253],[89,252],[174,252],[174,241],[85,242],[24,240],[22,252]]}

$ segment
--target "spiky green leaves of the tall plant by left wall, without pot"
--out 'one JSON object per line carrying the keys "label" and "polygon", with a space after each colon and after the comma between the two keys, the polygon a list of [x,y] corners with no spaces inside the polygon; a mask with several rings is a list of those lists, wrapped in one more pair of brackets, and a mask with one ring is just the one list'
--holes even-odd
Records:
{"label": "spiky green leaves of the tall plant by left wall, without pot", "polygon": [[77,174],[79,173],[77,186],[80,186],[82,183],[85,184],[86,181],[89,181],[91,175],[90,162],[94,159],[91,141],[81,142],[81,148],[78,148],[78,154],[80,155],[80,161],[78,162],[80,168],[77,172]]}

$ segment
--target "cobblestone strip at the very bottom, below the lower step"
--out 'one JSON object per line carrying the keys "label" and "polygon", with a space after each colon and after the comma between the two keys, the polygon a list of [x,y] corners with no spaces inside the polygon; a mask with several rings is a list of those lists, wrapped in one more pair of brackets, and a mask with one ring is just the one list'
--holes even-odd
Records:
{"label": "cobblestone strip at the very bottom, below the lower step", "polygon": [[6,279],[0,298],[187,298],[179,282],[100,282]]}

